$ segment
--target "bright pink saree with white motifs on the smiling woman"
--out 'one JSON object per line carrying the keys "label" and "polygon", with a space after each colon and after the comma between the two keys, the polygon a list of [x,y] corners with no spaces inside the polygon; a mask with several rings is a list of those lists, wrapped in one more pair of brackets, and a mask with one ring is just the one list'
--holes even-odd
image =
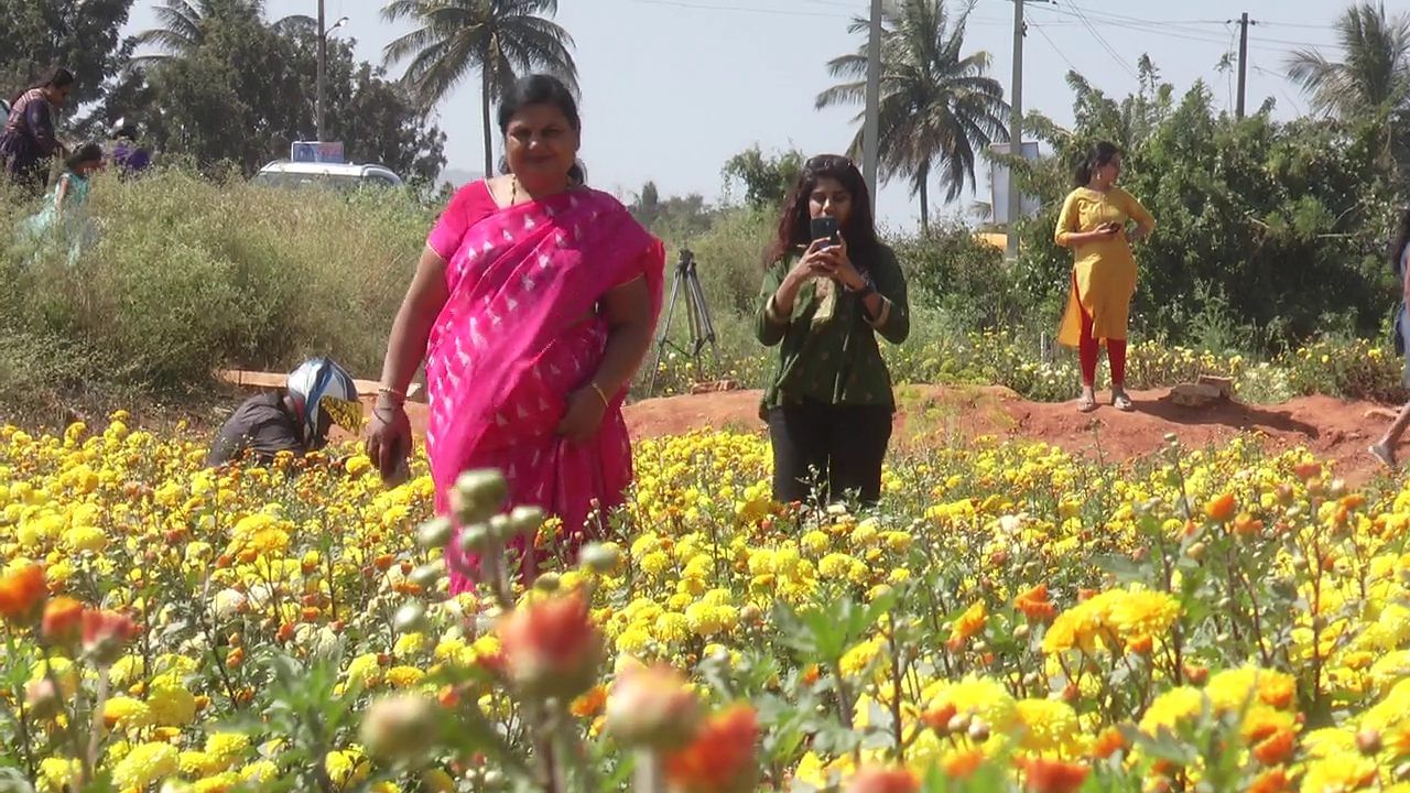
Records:
{"label": "bright pink saree with white motifs on the smiling woman", "polygon": [[[450,288],[426,346],[436,509],[448,511],[461,471],[499,468],[509,508],[561,518],[557,546],[575,555],[632,481],[625,391],[609,395],[592,439],[571,443],[556,430],[606,349],[598,302],[646,278],[653,322],[660,313],[664,248],[606,193],[577,189],[501,209],[484,182],[455,195],[427,244],[446,260]],[[453,593],[474,587],[465,571],[478,569],[458,539],[457,528],[447,547]],[[516,547],[533,571],[539,549]]]}

